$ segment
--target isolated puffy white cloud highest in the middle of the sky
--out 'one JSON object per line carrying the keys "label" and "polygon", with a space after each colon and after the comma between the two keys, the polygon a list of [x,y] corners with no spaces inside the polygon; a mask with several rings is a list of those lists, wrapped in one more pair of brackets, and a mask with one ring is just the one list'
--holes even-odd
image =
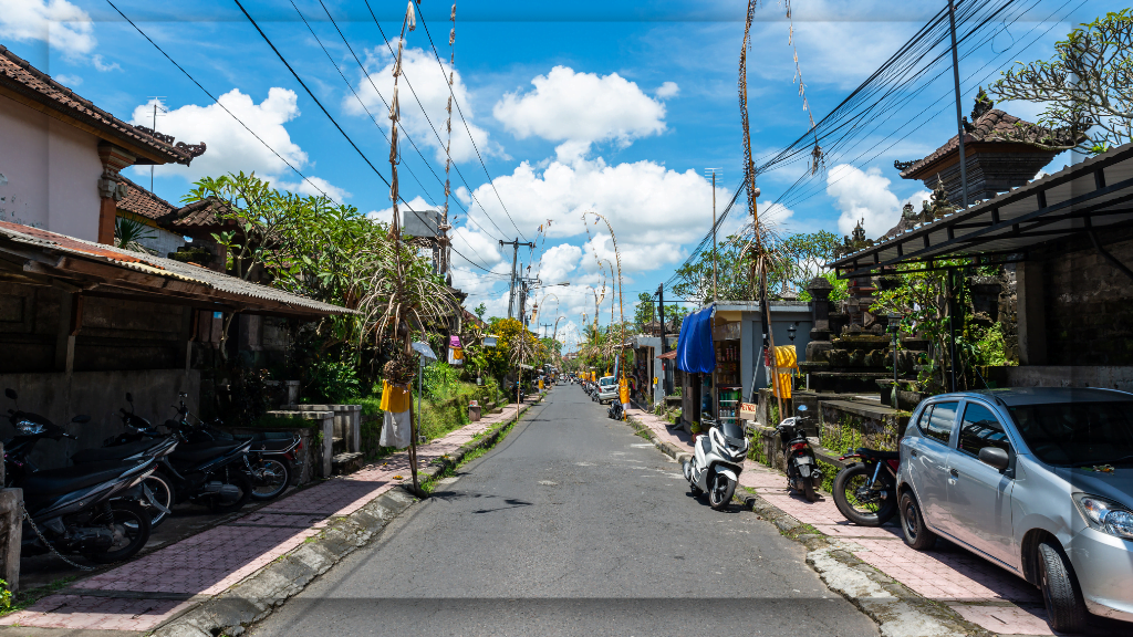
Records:
{"label": "isolated puffy white cloud highest in the middle of the sky", "polygon": [[[624,146],[665,130],[665,104],[616,73],[599,76],[557,66],[531,84],[533,91],[508,93],[492,110],[520,139],[534,135],[551,142],[615,141]],[[666,83],[658,96],[675,91],[676,84]]]}

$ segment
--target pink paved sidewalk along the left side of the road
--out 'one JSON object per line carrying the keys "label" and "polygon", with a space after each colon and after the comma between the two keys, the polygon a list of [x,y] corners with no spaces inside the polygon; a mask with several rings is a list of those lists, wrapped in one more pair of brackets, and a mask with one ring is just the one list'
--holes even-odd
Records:
{"label": "pink paved sidewalk along the left side of the road", "polygon": [[[534,397],[538,399],[539,396]],[[526,402],[522,407],[529,406]],[[418,467],[457,451],[520,406],[485,414],[417,448]],[[402,482],[410,483],[408,452],[384,458],[213,527],[138,560],[70,584],[34,605],[0,618],[0,626],[147,631],[204,597],[216,595],[298,547],[330,518],[350,515]]]}

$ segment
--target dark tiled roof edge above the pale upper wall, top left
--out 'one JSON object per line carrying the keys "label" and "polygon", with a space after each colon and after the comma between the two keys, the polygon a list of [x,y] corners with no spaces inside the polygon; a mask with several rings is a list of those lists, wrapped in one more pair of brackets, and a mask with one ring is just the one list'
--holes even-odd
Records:
{"label": "dark tiled roof edge above the pale upper wall, top left", "polygon": [[133,126],[95,107],[70,88],[33,67],[27,60],[0,45],[0,87],[12,91],[25,99],[42,104],[61,114],[91,126],[110,141],[118,139],[128,145],[144,148],[164,162],[186,165],[205,152],[204,144],[173,144],[168,135],[148,128]]}

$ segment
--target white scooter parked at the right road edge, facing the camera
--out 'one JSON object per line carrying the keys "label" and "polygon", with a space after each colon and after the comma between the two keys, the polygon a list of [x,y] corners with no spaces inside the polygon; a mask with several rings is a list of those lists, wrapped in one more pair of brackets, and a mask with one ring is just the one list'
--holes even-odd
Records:
{"label": "white scooter parked at the right road edge, facing the camera", "polygon": [[735,485],[743,472],[743,459],[748,456],[748,440],[743,428],[732,422],[716,424],[704,418],[708,427],[692,443],[692,459],[684,461],[684,479],[689,481],[692,493],[708,493],[708,503],[717,511],[726,509],[735,493]]}

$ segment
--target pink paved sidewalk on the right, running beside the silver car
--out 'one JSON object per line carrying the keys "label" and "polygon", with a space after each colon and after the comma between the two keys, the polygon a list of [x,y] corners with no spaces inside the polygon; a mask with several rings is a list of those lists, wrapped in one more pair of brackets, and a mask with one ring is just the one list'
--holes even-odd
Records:
{"label": "pink paved sidewalk on the right, running beside the silver car", "polygon": [[[629,415],[659,441],[691,452],[691,439],[682,430],[670,430],[664,419],[641,409],[632,408]],[[799,521],[845,541],[860,560],[972,623],[999,635],[1054,634],[1038,588],[964,549],[940,541],[934,551],[913,551],[902,541],[895,521],[880,528],[854,526],[838,512],[833,498],[807,502],[789,492],[782,473],[759,462],[744,462],[740,484]]]}

